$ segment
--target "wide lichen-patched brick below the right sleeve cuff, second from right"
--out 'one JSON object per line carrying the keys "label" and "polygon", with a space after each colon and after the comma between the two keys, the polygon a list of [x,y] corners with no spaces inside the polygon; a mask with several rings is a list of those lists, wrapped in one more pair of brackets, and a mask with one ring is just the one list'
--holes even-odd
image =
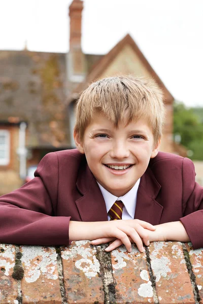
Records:
{"label": "wide lichen-patched brick below the right sleeve cuff, second from right", "polygon": [[149,251],[159,304],[194,303],[181,243],[151,243]]}

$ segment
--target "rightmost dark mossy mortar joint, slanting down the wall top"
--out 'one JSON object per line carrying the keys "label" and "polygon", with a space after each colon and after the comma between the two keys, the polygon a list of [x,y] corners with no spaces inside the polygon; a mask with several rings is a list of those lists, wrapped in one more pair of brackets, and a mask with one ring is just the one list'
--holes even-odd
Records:
{"label": "rightmost dark mossy mortar joint, slanting down the wall top", "polygon": [[189,252],[188,252],[188,250],[185,246],[185,243],[182,243],[182,247],[183,247],[183,254],[184,254],[184,258],[185,258],[187,271],[188,271],[188,274],[189,274],[189,277],[190,277],[190,282],[191,282],[192,290],[193,290],[193,293],[194,293],[195,304],[198,304],[198,303],[200,303],[201,298],[200,298],[199,290],[198,290],[198,287],[197,287],[197,284],[196,284],[196,276],[195,276],[195,274],[192,270],[192,263],[190,261]]}

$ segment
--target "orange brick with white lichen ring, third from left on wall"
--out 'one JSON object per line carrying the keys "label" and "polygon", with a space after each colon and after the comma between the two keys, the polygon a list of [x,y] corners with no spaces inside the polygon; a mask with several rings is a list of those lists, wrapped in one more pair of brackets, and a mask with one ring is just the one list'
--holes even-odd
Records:
{"label": "orange brick with white lichen ring, third from left on wall", "polygon": [[68,303],[104,303],[103,282],[96,249],[89,241],[61,247],[64,285]]}

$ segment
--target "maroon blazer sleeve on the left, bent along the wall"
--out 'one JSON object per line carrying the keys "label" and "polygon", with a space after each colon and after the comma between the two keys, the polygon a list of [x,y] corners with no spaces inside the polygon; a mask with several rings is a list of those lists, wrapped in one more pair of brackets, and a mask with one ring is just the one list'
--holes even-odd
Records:
{"label": "maroon blazer sleeve on the left, bent along the wall", "polygon": [[0,243],[69,244],[71,217],[54,216],[58,192],[58,156],[47,154],[35,178],[0,198]]}

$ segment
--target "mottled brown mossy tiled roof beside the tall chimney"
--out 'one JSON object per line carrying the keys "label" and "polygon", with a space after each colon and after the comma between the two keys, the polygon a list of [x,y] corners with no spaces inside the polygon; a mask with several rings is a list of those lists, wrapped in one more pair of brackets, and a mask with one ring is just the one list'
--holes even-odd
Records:
{"label": "mottled brown mossy tiled roof beside the tall chimney", "polygon": [[[69,147],[65,55],[0,51],[0,121],[26,121],[30,147]],[[101,56],[85,55],[88,70]]]}

